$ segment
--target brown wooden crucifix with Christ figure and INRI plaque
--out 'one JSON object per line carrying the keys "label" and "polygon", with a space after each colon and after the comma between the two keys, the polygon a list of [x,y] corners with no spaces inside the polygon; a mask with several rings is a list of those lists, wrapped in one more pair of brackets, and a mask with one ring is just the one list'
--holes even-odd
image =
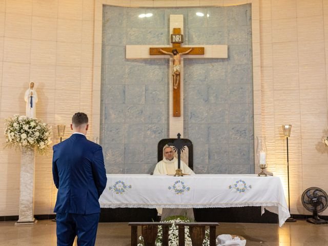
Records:
{"label": "brown wooden crucifix with Christ figure and INRI plaque", "polygon": [[181,74],[181,55],[203,55],[204,47],[181,47],[183,43],[183,35],[180,28],[173,28],[171,34],[171,47],[149,48],[150,55],[171,55],[173,58],[173,117],[181,116],[181,100],[180,100],[180,74]]}

